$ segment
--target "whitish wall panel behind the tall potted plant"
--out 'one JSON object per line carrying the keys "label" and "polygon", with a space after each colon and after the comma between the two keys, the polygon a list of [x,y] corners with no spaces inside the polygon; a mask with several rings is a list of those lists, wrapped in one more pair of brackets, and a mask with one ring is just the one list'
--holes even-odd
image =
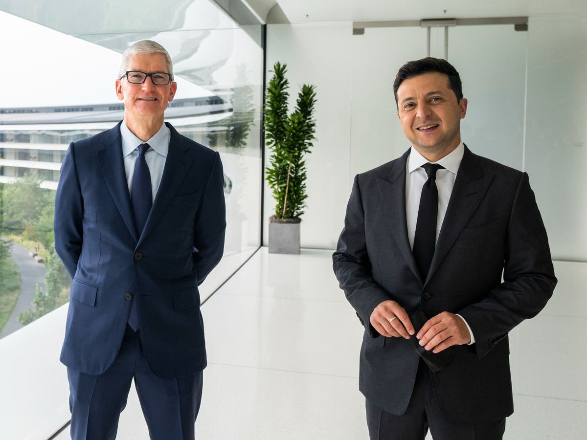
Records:
{"label": "whitish wall panel behind the tall potted plant", "polygon": [[[291,110],[299,86],[315,84],[316,141],[308,155],[308,199],[302,216],[302,247],[335,248],[349,197],[350,94],[352,25],[268,25],[267,69],[279,61],[288,66]],[[267,81],[272,73],[267,72]],[[266,162],[269,151],[265,151]],[[263,241],[275,202],[265,187]]]}

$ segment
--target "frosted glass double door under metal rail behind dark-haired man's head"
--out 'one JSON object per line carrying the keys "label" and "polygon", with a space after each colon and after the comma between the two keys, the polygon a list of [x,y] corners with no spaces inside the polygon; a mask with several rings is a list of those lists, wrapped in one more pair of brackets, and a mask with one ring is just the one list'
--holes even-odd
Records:
{"label": "frosted glass double door under metal rail behind dark-haired man's head", "polygon": [[[527,32],[513,25],[449,30],[448,60],[468,99],[463,141],[477,154],[522,168]],[[402,42],[377,56],[380,43]],[[431,29],[430,55],[444,58],[444,28]],[[426,28],[373,28],[353,38],[352,175],[399,157],[409,141],[397,121],[393,80],[407,60],[427,56]],[[377,97],[377,99],[373,99]]]}

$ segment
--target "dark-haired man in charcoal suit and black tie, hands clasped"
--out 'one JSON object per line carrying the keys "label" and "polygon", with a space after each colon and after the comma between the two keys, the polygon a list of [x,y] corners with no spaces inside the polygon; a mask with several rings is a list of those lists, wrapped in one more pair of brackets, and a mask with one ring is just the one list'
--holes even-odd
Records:
{"label": "dark-haired man in charcoal suit and black tie, hands clasped", "polygon": [[408,62],[393,87],[411,147],[355,177],[333,255],[365,326],[370,438],[500,439],[513,412],[508,332],[556,285],[546,231],[528,175],[461,141],[453,66]]}

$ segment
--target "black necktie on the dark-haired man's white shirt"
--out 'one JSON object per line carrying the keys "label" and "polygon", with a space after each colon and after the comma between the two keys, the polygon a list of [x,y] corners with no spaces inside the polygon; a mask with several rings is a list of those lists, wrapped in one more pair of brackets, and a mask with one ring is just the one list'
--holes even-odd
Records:
{"label": "black necktie on the dark-haired man's white shirt", "polygon": [[436,188],[436,171],[444,168],[438,164],[424,164],[428,180],[422,187],[420,208],[416,221],[416,234],[414,235],[413,254],[416,265],[420,269],[420,275],[426,280],[434,248],[436,247],[436,222],[438,218],[438,188]]}

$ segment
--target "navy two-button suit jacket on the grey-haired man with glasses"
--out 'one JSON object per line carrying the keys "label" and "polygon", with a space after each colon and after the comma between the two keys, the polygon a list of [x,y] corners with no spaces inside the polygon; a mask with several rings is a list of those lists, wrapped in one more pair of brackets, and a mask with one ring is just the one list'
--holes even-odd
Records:
{"label": "navy two-button suit jacket on the grey-haired man with glasses", "polygon": [[137,234],[120,123],[69,145],[55,196],[55,249],[72,277],[61,361],[102,374],[116,357],[139,295],[141,342],[153,373],[206,366],[198,285],[224,248],[220,155],[171,131],[161,184]]}

